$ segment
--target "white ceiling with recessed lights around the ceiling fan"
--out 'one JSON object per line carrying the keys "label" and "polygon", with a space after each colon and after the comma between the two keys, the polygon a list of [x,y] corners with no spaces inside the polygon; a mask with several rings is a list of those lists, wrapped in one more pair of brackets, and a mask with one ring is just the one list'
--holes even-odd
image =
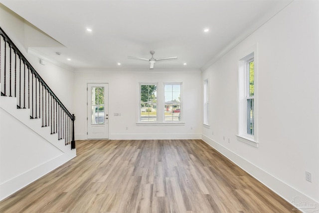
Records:
{"label": "white ceiling with recessed lights around the ceiling fan", "polygon": [[151,58],[150,50],[178,56],[157,69],[204,69],[291,1],[0,0],[64,45],[35,51],[75,69],[148,69],[127,56]]}

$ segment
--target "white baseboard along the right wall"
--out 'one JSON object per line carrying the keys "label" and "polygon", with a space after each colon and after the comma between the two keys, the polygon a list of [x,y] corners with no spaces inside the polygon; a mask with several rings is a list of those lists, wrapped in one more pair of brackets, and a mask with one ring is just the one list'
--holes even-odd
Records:
{"label": "white baseboard along the right wall", "polygon": [[[314,212],[318,211],[319,213],[318,201],[315,201],[314,199],[308,197],[307,195],[299,192],[293,187],[277,179],[276,177],[270,175],[266,171],[260,169],[259,167],[252,164],[251,162],[241,158],[236,153],[230,151],[229,149],[220,145],[219,143],[207,137],[206,135],[202,135],[201,139],[205,143],[207,143],[209,146],[211,146],[212,148],[220,152],[223,156],[228,158],[230,161],[232,161],[234,164],[242,168],[248,174],[256,178],[258,181],[260,181],[270,190],[275,192],[277,195],[285,199],[287,202],[291,203],[293,206],[297,207],[300,211],[302,212],[309,211],[309,208],[304,208],[303,204],[301,203],[304,200],[308,202],[309,205],[312,205],[312,207],[314,207],[313,208],[313,210],[315,210]],[[294,198],[295,198],[295,201],[293,200]]]}

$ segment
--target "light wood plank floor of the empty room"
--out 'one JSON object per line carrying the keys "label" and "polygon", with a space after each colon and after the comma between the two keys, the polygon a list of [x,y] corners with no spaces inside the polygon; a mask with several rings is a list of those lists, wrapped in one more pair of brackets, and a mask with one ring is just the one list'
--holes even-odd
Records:
{"label": "light wood plank floor of the empty room", "polygon": [[76,158],[0,202],[0,212],[299,212],[201,140],[76,146]]}

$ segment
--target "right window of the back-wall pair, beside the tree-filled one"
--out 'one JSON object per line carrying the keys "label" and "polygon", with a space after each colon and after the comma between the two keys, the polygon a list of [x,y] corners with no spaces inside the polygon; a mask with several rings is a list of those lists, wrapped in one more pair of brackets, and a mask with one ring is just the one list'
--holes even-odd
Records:
{"label": "right window of the back-wall pair, beside the tree-filled one", "polygon": [[164,121],[181,120],[181,83],[164,84]]}

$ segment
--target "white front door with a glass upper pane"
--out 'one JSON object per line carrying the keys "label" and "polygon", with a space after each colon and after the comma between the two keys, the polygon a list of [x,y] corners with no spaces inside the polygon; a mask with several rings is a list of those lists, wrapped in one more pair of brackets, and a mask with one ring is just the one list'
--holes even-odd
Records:
{"label": "white front door with a glass upper pane", "polygon": [[107,83],[88,84],[88,139],[109,138]]}

